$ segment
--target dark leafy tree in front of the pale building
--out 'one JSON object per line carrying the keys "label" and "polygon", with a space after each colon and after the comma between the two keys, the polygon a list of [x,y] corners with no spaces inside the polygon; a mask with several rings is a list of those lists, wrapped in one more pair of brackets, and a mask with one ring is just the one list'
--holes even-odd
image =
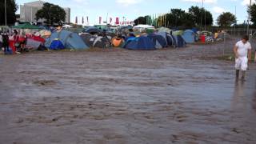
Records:
{"label": "dark leafy tree in front of the pale building", "polygon": [[43,18],[47,24],[53,25],[54,23],[65,22],[66,12],[62,7],[46,2],[35,16],[37,21]]}

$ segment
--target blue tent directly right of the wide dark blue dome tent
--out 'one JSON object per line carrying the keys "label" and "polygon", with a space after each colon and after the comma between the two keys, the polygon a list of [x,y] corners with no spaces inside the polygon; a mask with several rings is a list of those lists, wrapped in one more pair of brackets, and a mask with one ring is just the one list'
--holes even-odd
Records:
{"label": "blue tent directly right of the wide dark blue dome tent", "polygon": [[163,38],[161,34],[149,34],[147,37],[154,42],[155,48],[163,48],[167,46],[166,39]]}

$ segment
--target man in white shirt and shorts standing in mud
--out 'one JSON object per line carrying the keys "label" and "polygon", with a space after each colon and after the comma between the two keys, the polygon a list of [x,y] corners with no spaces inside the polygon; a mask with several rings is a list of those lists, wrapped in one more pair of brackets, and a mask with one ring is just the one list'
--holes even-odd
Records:
{"label": "man in white shirt and shorts standing in mud", "polygon": [[248,67],[248,58],[251,59],[251,46],[247,35],[242,37],[242,40],[234,46],[235,54],[235,70],[236,78],[239,78],[239,72],[242,71],[242,81],[245,80],[246,70]]}

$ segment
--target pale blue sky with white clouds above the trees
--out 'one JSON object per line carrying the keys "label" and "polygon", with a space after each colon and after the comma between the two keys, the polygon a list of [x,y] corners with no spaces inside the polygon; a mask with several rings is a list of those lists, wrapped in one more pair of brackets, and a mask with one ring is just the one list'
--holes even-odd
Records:
{"label": "pale blue sky with white clouds above the trees", "polygon": [[[54,3],[62,7],[70,7],[71,22],[75,22],[78,16],[78,24],[82,24],[82,17],[89,17],[89,24],[97,24],[99,17],[104,21],[119,18],[120,21],[133,21],[139,16],[166,14],[170,9],[179,8],[188,10],[190,6],[202,6],[202,0],[43,0],[44,2]],[[238,23],[243,23],[248,14],[246,12],[250,0],[203,0],[203,6],[214,16],[214,25],[216,19],[222,12],[236,14]],[[34,0],[16,0],[18,6]],[[252,0],[255,2],[255,0]],[[19,14],[19,10],[17,14]]]}

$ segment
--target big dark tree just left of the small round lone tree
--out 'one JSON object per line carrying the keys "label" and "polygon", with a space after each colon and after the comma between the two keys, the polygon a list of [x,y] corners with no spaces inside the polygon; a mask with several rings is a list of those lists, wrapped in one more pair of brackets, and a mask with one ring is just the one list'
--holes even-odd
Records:
{"label": "big dark tree just left of the small round lone tree", "polygon": [[213,15],[210,11],[205,10],[204,8],[199,8],[198,6],[191,6],[189,14],[192,17],[195,26],[211,26],[214,22]]}

